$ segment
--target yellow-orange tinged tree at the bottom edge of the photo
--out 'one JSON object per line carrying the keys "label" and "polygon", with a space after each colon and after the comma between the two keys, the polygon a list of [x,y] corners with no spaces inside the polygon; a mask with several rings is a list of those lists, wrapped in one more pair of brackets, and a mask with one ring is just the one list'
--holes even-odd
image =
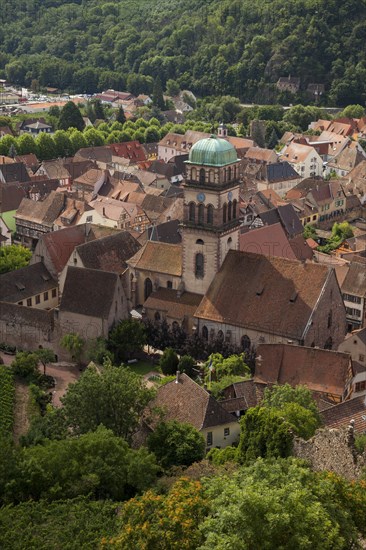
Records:
{"label": "yellow-orange tinged tree at the bottom edge of the photo", "polygon": [[121,531],[109,541],[115,548],[196,550],[202,542],[200,524],[209,502],[199,481],[180,479],[167,495],[147,491],[123,506]]}

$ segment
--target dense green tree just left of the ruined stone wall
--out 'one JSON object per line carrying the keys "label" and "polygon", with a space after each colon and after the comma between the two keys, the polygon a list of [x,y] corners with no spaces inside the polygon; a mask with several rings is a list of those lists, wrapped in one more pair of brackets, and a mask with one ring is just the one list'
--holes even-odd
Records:
{"label": "dense green tree just left of the ruined stone wall", "polygon": [[253,407],[240,421],[238,461],[248,463],[258,457],[278,458],[292,452],[292,427],[280,411]]}

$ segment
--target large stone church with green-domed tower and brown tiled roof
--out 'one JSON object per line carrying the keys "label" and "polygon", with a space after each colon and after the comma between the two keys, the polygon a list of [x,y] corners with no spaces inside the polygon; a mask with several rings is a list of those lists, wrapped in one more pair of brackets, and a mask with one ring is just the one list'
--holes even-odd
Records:
{"label": "large stone church with green-domed tower and brown tiled roof", "polygon": [[226,137],[221,131],[190,149],[181,244],[148,241],[127,262],[131,308],[242,349],[335,349],[346,320],[334,270],[239,251],[239,159]]}

